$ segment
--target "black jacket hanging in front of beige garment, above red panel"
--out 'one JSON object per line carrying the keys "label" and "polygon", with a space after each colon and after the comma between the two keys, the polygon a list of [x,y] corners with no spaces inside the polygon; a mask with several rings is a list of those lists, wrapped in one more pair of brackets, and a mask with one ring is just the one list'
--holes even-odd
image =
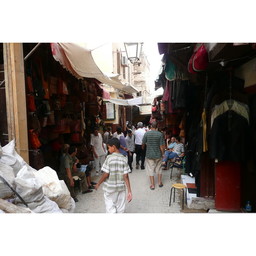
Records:
{"label": "black jacket hanging in front of beige garment, above red panel", "polygon": [[231,111],[229,131],[229,111],[217,116],[212,124],[209,157],[218,161],[244,161],[249,153],[249,124],[244,116]]}

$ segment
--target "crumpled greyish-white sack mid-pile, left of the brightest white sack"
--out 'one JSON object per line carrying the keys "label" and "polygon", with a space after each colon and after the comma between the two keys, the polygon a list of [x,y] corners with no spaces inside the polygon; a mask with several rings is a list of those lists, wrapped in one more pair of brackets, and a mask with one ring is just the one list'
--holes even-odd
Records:
{"label": "crumpled greyish-white sack mid-pile, left of the brightest white sack", "polygon": [[[44,197],[43,187],[26,166],[17,173],[15,178],[16,191],[26,203],[40,201]],[[17,198],[16,201],[20,201]],[[30,207],[29,207],[30,208]]]}

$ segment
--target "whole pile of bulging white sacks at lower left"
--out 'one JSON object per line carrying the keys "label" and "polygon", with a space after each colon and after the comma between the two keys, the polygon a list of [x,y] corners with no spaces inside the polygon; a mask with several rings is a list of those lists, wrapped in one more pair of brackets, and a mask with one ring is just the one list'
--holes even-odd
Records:
{"label": "whole pile of bulging white sacks at lower left", "polygon": [[[0,175],[12,185],[28,207],[0,179],[0,198],[4,200],[15,198],[13,204],[32,213],[75,212],[75,201],[64,181],[59,180],[56,172],[48,166],[38,171],[29,166],[15,151],[14,140],[3,148],[0,145]],[[0,213],[4,212],[0,210]]]}

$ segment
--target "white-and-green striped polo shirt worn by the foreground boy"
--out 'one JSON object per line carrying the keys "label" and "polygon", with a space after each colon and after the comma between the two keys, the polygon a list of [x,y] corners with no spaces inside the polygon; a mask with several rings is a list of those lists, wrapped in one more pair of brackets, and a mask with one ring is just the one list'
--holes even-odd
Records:
{"label": "white-and-green striped polo shirt worn by the foreground boy", "polygon": [[107,156],[102,171],[109,173],[103,183],[102,189],[113,193],[126,189],[124,175],[130,171],[127,158],[120,153],[113,153]]}

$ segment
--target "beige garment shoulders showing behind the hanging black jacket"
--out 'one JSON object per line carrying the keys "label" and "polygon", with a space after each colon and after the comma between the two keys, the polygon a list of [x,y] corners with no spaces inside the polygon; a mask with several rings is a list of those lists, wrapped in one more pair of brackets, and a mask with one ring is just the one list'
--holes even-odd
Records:
{"label": "beige garment shoulders showing behind the hanging black jacket", "polygon": [[215,107],[212,109],[212,115],[211,115],[211,128],[212,123],[214,119],[228,111],[229,109],[235,111],[241,116],[244,116],[249,124],[249,107],[246,104],[243,104],[241,102],[238,102],[236,100],[231,100],[231,106],[230,106],[230,100],[225,100],[220,105],[215,105]]}

